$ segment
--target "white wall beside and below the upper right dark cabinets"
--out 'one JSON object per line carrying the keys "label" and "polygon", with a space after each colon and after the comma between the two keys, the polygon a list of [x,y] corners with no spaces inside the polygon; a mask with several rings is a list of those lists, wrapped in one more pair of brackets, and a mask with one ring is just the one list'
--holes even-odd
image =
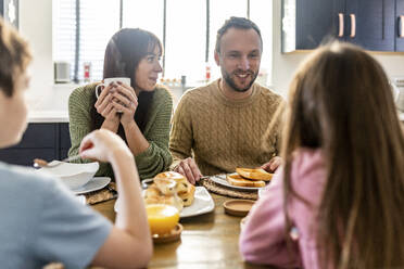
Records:
{"label": "white wall beside and below the upper right dark cabinets", "polygon": [[[281,53],[281,0],[273,0],[273,3],[274,54],[272,86],[276,92],[286,97],[289,81],[293,76],[294,71],[310,52],[290,54]],[[389,77],[404,77],[403,54],[381,55],[380,53],[374,53],[374,56],[381,63]]]}

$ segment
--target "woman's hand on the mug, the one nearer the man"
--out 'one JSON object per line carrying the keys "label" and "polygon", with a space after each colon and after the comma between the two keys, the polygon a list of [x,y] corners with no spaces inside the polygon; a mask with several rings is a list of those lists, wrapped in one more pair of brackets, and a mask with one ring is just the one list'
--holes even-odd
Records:
{"label": "woman's hand on the mug, the one nearer the man", "polygon": [[119,84],[116,87],[116,91],[112,93],[113,104],[116,111],[121,112],[121,123],[122,125],[128,126],[134,123],[134,116],[136,108],[138,107],[138,98],[135,94],[134,88],[130,86]]}

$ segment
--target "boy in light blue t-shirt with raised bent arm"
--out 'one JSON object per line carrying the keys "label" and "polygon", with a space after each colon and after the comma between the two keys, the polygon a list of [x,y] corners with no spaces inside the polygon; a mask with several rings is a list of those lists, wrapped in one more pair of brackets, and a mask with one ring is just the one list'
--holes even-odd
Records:
{"label": "boy in light blue t-shirt with raised bent arm", "polygon": [[[0,148],[16,144],[26,128],[27,43],[0,20]],[[84,158],[110,162],[124,208],[115,225],[81,205],[58,181],[0,163],[1,268],[146,267],[152,242],[134,155],[109,130],[86,136]]]}

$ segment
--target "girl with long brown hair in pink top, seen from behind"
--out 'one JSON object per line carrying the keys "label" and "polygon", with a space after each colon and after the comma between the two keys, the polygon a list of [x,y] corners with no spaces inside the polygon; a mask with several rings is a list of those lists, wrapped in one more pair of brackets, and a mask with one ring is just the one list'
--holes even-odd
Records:
{"label": "girl with long brown hair in pink top, seen from behind", "polygon": [[404,267],[404,138],[382,67],[351,44],[318,49],[291,84],[283,168],[240,236],[280,267]]}

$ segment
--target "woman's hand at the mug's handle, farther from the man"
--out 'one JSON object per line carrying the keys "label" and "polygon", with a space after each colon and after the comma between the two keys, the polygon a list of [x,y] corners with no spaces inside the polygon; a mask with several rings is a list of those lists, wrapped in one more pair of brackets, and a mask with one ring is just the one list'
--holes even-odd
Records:
{"label": "woman's hand at the mug's handle, farther from the man", "polygon": [[117,110],[114,106],[113,102],[113,94],[116,91],[116,85],[111,84],[106,88],[104,88],[100,97],[98,98],[94,107],[99,114],[101,114],[105,120],[119,123],[119,115],[117,114]]}

